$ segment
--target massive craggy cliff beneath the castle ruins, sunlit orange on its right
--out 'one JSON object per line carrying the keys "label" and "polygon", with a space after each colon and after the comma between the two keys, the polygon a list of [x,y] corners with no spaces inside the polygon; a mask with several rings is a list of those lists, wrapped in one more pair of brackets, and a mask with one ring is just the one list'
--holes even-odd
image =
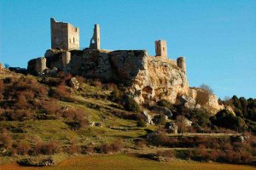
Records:
{"label": "massive craggy cliff beneath the castle ruins, sunlit orange on its right", "polygon": [[145,50],[86,49],[81,53],[74,54],[67,65],[73,74],[122,82],[138,103],[149,99],[175,103],[177,94],[189,93],[185,72],[171,59],[149,56]]}

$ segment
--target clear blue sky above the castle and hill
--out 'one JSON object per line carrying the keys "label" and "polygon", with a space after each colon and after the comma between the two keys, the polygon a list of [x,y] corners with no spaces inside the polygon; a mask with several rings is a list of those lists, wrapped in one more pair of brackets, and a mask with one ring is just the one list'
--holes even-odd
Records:
{"label": "clear blue sky above the castle and hill", "polygon": [[83,48],[96,23],[106,49],[154,55],[154,40],[165,39],[169,58],[186,57],[191,87],[256,98],[255,0],[0,0],[0,62],[26,67],[44,56],[50,17],[78,26]]}

